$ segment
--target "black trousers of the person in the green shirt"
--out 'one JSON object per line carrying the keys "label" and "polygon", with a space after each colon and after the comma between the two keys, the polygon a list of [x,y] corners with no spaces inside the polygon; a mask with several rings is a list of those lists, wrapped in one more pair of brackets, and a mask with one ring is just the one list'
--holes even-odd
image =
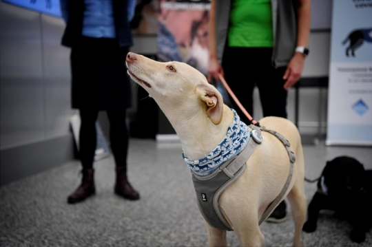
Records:
{"label": "black trousers of the person in the green shirt", "polygon": [[[287,90],[282,79],[287,67],[274,68],[271,64],[272,48],[269,47],[225,47],[223,69],[225,79],[240,103],[254,118],[253,92],[260,92],[263,116],[287,118]],[[230,98],[232,107],[240,119],[249,124],[248,118]],[[255,118],[256,119],[256,118]],[[257,119],[258,120],[258,119]]]}

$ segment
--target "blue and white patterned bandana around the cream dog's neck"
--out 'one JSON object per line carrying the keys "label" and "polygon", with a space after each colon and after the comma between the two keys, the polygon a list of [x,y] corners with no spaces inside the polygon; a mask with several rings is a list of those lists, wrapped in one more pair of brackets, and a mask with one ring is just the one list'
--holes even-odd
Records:
{"label": "blue and white patterned bandana around the cream dog's neck", "polygon": [[189,160],[182,151],[182,158],[187,163],[187,167],[192,169],[197,175],[208,175],[216,171],[221,164],[238,155],[249,141],[249,129],[244,122],[240,121],[234,109],[234,121],[227,129],[225,138],[211,151],[207,157],[200,160]]}

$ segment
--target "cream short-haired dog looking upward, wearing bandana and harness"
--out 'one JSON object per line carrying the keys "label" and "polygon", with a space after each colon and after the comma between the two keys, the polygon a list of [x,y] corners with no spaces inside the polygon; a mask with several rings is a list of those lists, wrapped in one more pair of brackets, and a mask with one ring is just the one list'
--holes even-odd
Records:
{"label": "cream short-haired dog looking upward, wearing bandana and harness", "polygon": [[[204,158],[223,140],[234,113],[223,104],[222,96],[203,74],[185,63],[160,63],[132,52],[127,54],[127,69],[130,77],[161,107],[176,130],[187,158]],[[262,118],[260,125],[285,136],[296,154],[293,178],[282,200],[288,196],[291,203],[295,222],[293,246],[301,246],[307,202],[300,135],[296,126],[285,118]],[[282,142],[266,131],[262,131],[262,136],[263,142],[247,161],[247,169],[218,200],[220,211],[241,246],[262,246],[264,236],[258,222],[279,195],[289,173],[289,156]],[[209,246],[227,246],[225,230],[207,222],[205,225]]]}

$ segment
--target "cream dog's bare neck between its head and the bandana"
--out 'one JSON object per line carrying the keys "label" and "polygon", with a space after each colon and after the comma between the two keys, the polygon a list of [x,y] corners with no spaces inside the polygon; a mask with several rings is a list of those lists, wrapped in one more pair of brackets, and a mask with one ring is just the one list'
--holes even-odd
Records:
{"label": "cream dog's bare neck between its head and the bandana", "polygon": [[167,118],[176,130],[187,158],[198,160],[214,150],[225,138],[227,129],[234,120],[234,113],[224,105],[223,118],[218,125],[214,125],[203,110],[193,113],[192,116],[169,114]]}

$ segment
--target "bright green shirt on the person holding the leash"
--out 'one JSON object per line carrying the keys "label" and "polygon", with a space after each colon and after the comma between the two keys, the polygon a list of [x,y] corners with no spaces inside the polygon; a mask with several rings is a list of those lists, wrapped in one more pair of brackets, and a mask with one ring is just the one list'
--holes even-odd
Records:
{"label": "bright green shirt on the person holding the leash", "polygon": [[273,47],[271,0],[234,0],[231,5],[229,46]]}

